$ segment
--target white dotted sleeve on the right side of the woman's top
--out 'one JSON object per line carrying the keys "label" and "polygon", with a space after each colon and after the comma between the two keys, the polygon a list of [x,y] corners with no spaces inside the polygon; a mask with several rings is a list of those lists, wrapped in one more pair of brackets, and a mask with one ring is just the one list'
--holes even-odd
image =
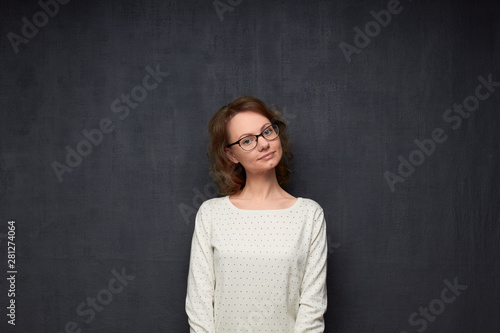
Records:
{"label": "white dotted sleeve on the right side of the woman's top", "polygon": [[326,312],[326,221],[319,208],[313,219],[309,253],[300,287],[300,302],[294,333],[321,333],[325,330]]}

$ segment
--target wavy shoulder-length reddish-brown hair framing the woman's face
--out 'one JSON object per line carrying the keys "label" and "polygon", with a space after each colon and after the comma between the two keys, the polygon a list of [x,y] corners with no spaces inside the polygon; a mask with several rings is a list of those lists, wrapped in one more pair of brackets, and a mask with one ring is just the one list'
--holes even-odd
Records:
{"label": "wavy shoulder-length reddish-brown hair framing the woman's face", "polygon": [[232,195],[245,187],[246,173],[241,163],[233,163],[224,152],[224,148],[230,143],[228,141],[227,123],[236,114],[243,111],[257,112],[272,124],[279,126],[279,137],[283,151],[280,162],[275,168],[276,178],[280,186],[286,185],[292,174],[288,164],[293,158],[290,151],[290,141],[286,130],[286,123],[277,107],[269,109],[261,100],[252,96],[241,96],[226,106],[223,106],[208,123],[208,132],[211,141],[208,145],[208,158],[210,160],[210,171],[215,183],[219,188],[219,194]]}

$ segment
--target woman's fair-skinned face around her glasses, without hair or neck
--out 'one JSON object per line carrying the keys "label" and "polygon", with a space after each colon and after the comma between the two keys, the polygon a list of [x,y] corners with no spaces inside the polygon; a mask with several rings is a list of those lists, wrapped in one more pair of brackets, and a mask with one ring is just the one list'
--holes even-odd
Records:
{"label": "woman's fair-skinned face around her glasses, without hair or neck", "polygon": [[[247,135],[258,135],[271,125],[269,119],[254,111],[236,114],[227,123],[229,142],[233,143]],[[275,168],[282,156],[279,136],[274,140],[266,140],[259,136],[257,146],[243,150],[238,144],[225,148],[227,157],[233,163],[241,163],[247,173],[262,173]]]}

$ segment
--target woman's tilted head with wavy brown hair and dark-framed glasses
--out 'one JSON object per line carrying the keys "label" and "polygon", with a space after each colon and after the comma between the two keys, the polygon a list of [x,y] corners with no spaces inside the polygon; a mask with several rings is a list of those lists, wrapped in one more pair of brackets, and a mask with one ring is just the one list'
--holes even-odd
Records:
{"label": "woman's tilted head with wavy brown hair and dark-framed glasses", "polygon": [[[211,136],[208,150],[211,171],[221,195],[241,190],[245,186],[247,171],[273,168],[278,184],[288,182],[292,172],[288,164],[293,155],[289,149],[286,124],[277,110],[270,110],[255,97],[242,96],[217,111],[209,122],[208,130]],[[279,136],[273,139],[275,130],[279,131]],[[262,135],[258,136],[255,148],[250,149],[243,144],[250,142],[245,138],[247,135],[259,134]],[[237,141],[242,145],[235,143]],[[227,147],[229,144],[233,145]],[[266,154],[270,156],[262,159]]]}

